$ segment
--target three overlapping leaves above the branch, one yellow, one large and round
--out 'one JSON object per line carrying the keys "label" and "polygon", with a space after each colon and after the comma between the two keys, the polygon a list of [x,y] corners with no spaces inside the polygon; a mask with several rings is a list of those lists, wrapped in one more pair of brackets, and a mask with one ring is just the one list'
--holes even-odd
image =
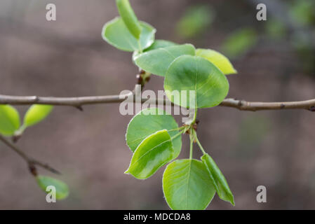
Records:
{"label": "three overlapping leaves above the branch, one yellow, one large and round", "polygon": [[[195,50],[190,44],[162,46],[134,55],[133,59],[141,69],[165,76],[164,89],[168,99],[189,108],[208,108],[220,104],[229,91],[224,74],[236,73],[224,55],[215,50]],[[189,91],[194,92],[193,97],[187,96]],[[176,98],[176,93],[180,97]]]}

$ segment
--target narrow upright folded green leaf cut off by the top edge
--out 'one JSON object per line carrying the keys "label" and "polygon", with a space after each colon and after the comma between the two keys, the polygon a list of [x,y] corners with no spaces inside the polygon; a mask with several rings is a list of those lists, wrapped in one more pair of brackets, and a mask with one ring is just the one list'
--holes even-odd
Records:
{"label": "narrow upright folded green leaf cut off by the top edge", "polygon": [[116,0],[116,4],[119,14],[121,15],[121,18],[123,19],[126,27],[136,39],[139,39],[142,27],[137,19],[137,16],[135,15],[135,12],[133,11],[133,8],[131,8],[129,1]]}

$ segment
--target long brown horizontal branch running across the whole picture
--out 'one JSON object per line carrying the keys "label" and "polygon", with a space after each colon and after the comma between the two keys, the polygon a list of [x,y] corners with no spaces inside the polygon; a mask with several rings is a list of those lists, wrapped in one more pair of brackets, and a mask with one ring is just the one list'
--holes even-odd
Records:
{"label": "long brown horizontal branch running across the whole picture", "polygon": [[[88,104],[111,104],[121,103],[128,99],[130,94],[126,95],[108,95],[96,97],[15,97],[0,95],[0,104],[11,105],[29,105],[29,104],[49,104],[55,106],[74,106],[81,109],[83,105]],[[141,102],[156,104],[171,104],[168,99],[146,99],[142,98]],[[135,96],[133,96],[135,102]],[[298,102],[246,102],[239,99],[224,99],[220,106],[232,107],[241,111],[263,111],[263,110],[283,110],[283,109],[305,109],[315,111],[315,99],[309,99]]]}

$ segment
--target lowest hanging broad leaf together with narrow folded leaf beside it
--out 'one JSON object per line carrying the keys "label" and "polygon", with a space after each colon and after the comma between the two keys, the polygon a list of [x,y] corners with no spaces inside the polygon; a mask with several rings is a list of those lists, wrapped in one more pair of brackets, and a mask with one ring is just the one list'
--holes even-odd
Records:
{"label": "lowest hanging broad leaf together with narrow folded leaf beside it", "polygon": [[234,205],[227,181],[213,159],[206,154],[201,160],[175,160],[166,167],[163,193],[171,209],[206,209],[215,192]]}

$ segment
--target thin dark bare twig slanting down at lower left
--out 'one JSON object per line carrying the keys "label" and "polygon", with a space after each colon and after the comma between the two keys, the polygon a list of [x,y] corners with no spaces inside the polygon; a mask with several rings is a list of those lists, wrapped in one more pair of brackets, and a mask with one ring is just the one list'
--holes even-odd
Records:
{"label": "thin dark bare twig slanting down at lower left", "polygon": [[58,170],[54,169],[53,167],[50,167],[49,165],[40,162],[38,160],[34,160],[33,158],[29,158],[28,155],[26,155],[23,151],[20,150],[20,148],[18,148],[17,146],[15,146],[14,144],[12,144],[10,141],[8,141],[5,137],[3,137],[0,134],[0,141],[2,141],[4,144],[6,144],[6,146],[8,146],[9,148],[11,148],[13,151],[15,151],[15,153],[18,153],[18,155],[20,155],[20,157],[25,160],[25,162],[27,162],[27,165],[29,166],[29,171],[36,176],[37,172],[36,172],[36,167],[35,166],[39,166],[42,167],[43,169],[48,170],[49,172],[52,172],[54,174],[60,174],[60,172],[58,172]]}

